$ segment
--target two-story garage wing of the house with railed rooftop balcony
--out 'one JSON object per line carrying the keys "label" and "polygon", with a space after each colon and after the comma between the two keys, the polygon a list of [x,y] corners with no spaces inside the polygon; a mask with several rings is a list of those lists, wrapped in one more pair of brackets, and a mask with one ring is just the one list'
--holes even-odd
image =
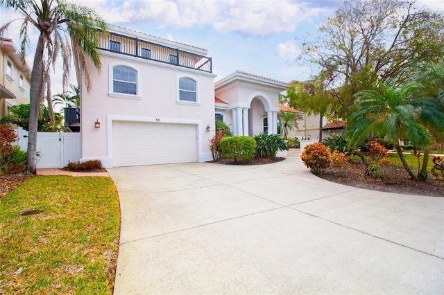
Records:
{"label": "two-story garage wing of the house with railed rooftop balcony", "polygon": [[89,64],[89,93],[75,56],[80,160],[106,168],[211,160],[216,75],[207,50],[117,26],[100,42],[102,68]]}

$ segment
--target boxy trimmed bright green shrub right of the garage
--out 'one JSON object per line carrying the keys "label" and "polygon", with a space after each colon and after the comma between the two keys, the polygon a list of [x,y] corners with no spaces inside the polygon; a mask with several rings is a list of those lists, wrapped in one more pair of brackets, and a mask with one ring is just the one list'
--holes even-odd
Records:
{"label": "boxy trimmed bright green shrub right of the garage", "polygon": [[221,139],[221,151],[234,161],[250,160],[255,157],[256,141],[250,136],[227,136]]}

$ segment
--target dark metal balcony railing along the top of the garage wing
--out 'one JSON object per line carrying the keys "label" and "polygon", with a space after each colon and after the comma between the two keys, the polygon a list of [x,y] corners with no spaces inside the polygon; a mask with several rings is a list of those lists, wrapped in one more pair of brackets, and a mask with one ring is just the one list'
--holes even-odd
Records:
{"label": "dark metal balcony railing along the top of the garage wing", "polygon": [[99,32],[99,34],[99,48],[104,51],[136,56],[144,58],[145,60],[155,60],[156,62],[212,73],[211,57],[181,51],[178,48],[171,48],[116,33],[103,35],[102,32]]}

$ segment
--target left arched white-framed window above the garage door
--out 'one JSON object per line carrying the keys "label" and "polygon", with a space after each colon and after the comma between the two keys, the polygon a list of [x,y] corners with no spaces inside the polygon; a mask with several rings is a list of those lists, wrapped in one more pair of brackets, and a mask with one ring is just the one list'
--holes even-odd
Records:
{"label": "left arched white-framed window above the garage door", "polygon": [[137,95],[137,71],[128,66],[112,68],[112,91]]}

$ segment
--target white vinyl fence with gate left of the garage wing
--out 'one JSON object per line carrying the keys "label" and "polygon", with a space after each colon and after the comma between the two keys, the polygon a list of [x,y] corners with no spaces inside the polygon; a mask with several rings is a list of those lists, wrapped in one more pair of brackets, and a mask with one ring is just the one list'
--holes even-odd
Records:
{"label": "white vinyl fence with gate left of the garage wing", "polygon": [[[14,131],[19,136],[15,145],[28,150],[28,132],[22,127]],[[81,149],[80,133],[37,132],[37,168],[63,168],[69,162],[78,162]]]}

